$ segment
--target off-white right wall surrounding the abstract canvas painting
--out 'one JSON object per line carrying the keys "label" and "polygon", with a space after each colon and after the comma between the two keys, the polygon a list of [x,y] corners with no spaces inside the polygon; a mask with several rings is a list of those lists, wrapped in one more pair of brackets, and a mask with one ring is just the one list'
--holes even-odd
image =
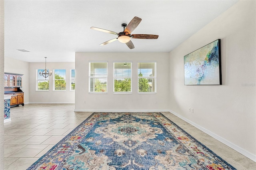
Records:
{"label": "off-white right wall surrounding the abstract canvas painting", "polygon": [[[256,161],[256,1],[240,1],[170,52],[170,112]],[[223,85],[184,85],[184,55],[221,39]],[[188,108],[193,108],[194,113]]]}

